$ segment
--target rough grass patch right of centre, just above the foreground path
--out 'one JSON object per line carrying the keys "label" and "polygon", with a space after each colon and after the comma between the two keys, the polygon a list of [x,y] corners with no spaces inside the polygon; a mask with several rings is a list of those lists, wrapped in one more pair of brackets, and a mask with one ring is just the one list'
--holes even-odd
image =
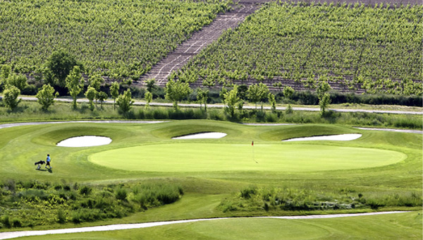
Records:
{"label": "rough grass patch right of centre, just above the foreground path", "polygon": [[296,188],[243,188],[231,198],[221,200],[218,208],[223,212],[269,210],[338,210],[378,209],[381,207],[417,207],[422,205],[421,194],[410,192],[381,196],[363,196],[355,190],[317,193]]}

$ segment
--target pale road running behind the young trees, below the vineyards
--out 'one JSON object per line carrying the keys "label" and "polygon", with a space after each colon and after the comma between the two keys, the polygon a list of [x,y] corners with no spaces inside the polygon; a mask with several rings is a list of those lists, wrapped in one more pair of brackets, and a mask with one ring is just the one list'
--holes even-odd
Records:
{"label": "pale road running behind the young trees, below the vineyards", "polygon": [[[19,97],[21,100],[25,101],[37,101],[37,97]],[[57,102],[73,102],[71,98],[55,98],[54,101]],[[78,99],[77,102],[90,102],[87,99]],[[104,101],[106,104],[113,104],[112,100]],[[147,104],[145,101],[135,101],[134,105],[145,105]],[[161,106],[161,107],[173,107],[173,103],[171,102],[150,102],[150,106]],[[178,103],[179,107],[201,107],[200,104],[197,103]],[[225,107],[223,104],[207,104],[209,108],[223,108]],[[255,109],[254,106],[244,106],[244,109]],[[263,107],[263,109],[269,110],[271,107]],[[293,110],[296,111],[310,111],[310,112],[319,112],[319,107],[292,107]],[[276,110],[286,110],[286,107],[276,107]],[[332,109],[329,108],[333,112],[367,112],[367,113],[375,113],[375,114],[413,114],[413,115],[423,115],[423,111],[396,111],[396,110],[368,110],[368,109]]]}

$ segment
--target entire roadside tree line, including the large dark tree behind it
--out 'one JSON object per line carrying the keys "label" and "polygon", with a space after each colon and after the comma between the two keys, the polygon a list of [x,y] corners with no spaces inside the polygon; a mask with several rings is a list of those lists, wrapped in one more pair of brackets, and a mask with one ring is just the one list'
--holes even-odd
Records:
{"label": "entire roadside tree line, including the large dark tree behind it", "polygon": [[[84,95],[89,100],[90,109],[94,109],[94,104],[97,105],[99,102],[100,108],[102,103],[109,97],[114,100],[118,106],[118,111],[122,114],[126,114],[130,111],[134,100],[130,89],[127,89],[120,93],[122,83],[114,81],[109,86],[109,94],[101,90],[104,85],[104,78],[99,73],[94,73],[91,76],[84,78],[82,76],[81,64],[75,60],[75,56],[68,54],[67,52],[60,50],[54,52],[49,57],[47,64],[49,73],[51,75],[48,78],[44,78],[44,84],[37,90],[37,102],[41,105],[41,108],[48,110],[49,107],[54,104],[54,98],[59,97],[59,92],[56,89],[61,89],[63,86],[67,90],[68,95],[72,97],[72,107],[76,109],[78,106],[78,96]],[[124,83],[123,83],[124,84]],[[321,88],[319,92],[322,92],[322,96],[326,94],[326,98],[320,98],[321,112],[324,113],[327,105],[329,104],[330,86],[326,82],[322,82],[325,87]],[[9,109],[13,110],[18,107],[20,99],[18,96],[20,92],[27,88],[27,77],[23,74],[14,73],[11,66],[4,64],[0,68],[0,89],[3,88],[3,99],[2,101]],[[155,85],[154,79],[146,80],[146,92],[145,92],[145,107],[149,108],[149,103],[152,102]],[[86,89],[86,90],[85,90]],[[320,88],[319,88],[320,89]],[[85,92],[83,92],[85,90]],[[189,83],[183,80],[169,79],[164,88],[166,93],[165,98],[173,102],[173,108],[178,111],[178,102],[185,100],[191,93]],[[283,89],[283,95],[290,97],[294,92],[293,88],[286,87]],[[250,85],[238,86],[233,85],[231,88],[223,87],[219,93],[223,104],[225,104],[225,112],[233,117],[235,108],[239,110],[243,109],[244,102],[254,102],[257,109],[257,103],[263,103],[268,101],[271,103],[272,111],[276,110],[276,100],[274,93],[269,91],[269,88],[263,83]],[[200,108],[204,106],[204,111],[207,112],[207,100],[209,98],[209,90],[207,88],[197,89],[197,102],[200,103]],[[288,106],[287,112],[291,112],[290,105]]]}

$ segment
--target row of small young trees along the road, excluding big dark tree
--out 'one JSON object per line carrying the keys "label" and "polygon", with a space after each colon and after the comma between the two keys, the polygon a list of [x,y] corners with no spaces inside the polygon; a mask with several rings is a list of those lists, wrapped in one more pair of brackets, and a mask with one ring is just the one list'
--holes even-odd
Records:
{"label": "row of small young trees along the road, excluding big dark tree", "polygon": [[[2,80],[3,78],[0,78]],[[4,95],[4,104],[10,109],[15,109],[18,107],[20,99],[20,89],[18,86],[13,85],[11,81],[2,80],[5,82],[5,89],[3,92]],[[68,89],[69,95],[73,98],[73,109],[77,108],[77,98],[81,94],[82,90],[85,88],[85,79],[82,77],[80,71],[80,66],[73,66],[73,69],[70,71],[68,76],[65,79],[66,88]],[[85,91],[85,97],[90,102],[90,109],[94,109],[94,100],[97,104],[97,101],[100,102],[102,107],[102,102],[106,100],[109,95],[106,92],[103,92],[100,89],[101,85],[104,83],[102,76],[93,75],[90,76],[87,80],[87,90]],[[152,102],[152,90],[155,88],[154,79],[149,79],[147,83],[147,92],[145,92],[145,107],[149,108],[149,103]],[[26,84],[26,81],[25,81]],[[21,88],[22,88],[21,83]],[[123,94],[119,95],[120,85],[115,81],[109,87],[110,97],[113,98],[114,104],[119,107],[119,111],[123,114],[126,114],[130,111],[134,100],[132,98],[130,90],[126,90]],[[242,88],[242,89],[241,89]],[[327,82],[322,82],[317,88],[317,93],[319,96],[319,105],[321,106],[321,113],[324,114],[327,105],[330,103],[330,97],[328,91],[330,90],[330,85]],[[192,93],[189,83],[185,83],[181,80],[169,80],[165,88],[166,99],[173,102],[173,107],[178,111],[178,102],[185,100],[188,95]],[[283,95],[290,97],[293,95],[293,88],[285,87],[283,89]],[[198,88],[197,89],[197,102],[200,103],[200,108],[204,104],[204,111],[207,112],[207,100],[209,95],[209,90],[207,88]],[[42,109],[47,110],[49,107],[54,104],[54,98],[58,97],[59,93],[54,90],[50,84],[42,85],[42,88],[39,88],[37,92],[37,102],[41,104]],[[257,102],[263,103],[268,101],[271,104],[272,111],[276,111],[276,100],[272,92],[269,91],[269,88],[263,83],[253,84],[250,87],[233,85],[230,90],[222,88],[220,92],[221,100],[225,104],[225,111],[233,117],[235,114],[235,108],[238,107],[239,110],[243,109],[243,104],[246,101],[254,102],[257,109]],[[290,105],[288,105],[287,112],[292,112]]]}

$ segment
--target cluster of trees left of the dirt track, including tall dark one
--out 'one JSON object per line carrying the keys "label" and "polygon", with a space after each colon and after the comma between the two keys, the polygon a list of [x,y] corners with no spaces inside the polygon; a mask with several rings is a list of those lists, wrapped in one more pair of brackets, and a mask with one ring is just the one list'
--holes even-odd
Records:
{"label": "cluster of trees left of the dirt track, including tall dark one", "polygon": [[[60,57],[59,57],[60,56]],[[37,91],[37,102],[41,104],[42,109],[47,110],[54,104],[54,98],[59,96],[54,86],[61,87],[64,85],[68,90],[69,95],[73,98],[73,108],[77,107],[77,98],[85,88],[85,78],[82,76],[82,70],[76,61],[69,54],[64,52],[57,52],[53,54],[47,62],[49,68],[49,75],[44,76],[44,85]],[[94,109],[94,100],[102,104],[109,95],[100,89],[104,83],[104,78],[99,73],[93,74],[87,79],[88,85],[85,92],[85,97],[90,101],[90,109]],[[22,74],[13,73],[11,67],[3,65],[0,68],[0,86],[3,86],[3,101],[6,107],[16,109],[20,103],[18,96],[20,92],[27,87],[27,77]],[[133,104],[130,95],[130,90],[119,95],[120,85],[115,81],[111,84],[109,92],[114,102],[117,102],[121,111],[128,112],[129,107]]]}

